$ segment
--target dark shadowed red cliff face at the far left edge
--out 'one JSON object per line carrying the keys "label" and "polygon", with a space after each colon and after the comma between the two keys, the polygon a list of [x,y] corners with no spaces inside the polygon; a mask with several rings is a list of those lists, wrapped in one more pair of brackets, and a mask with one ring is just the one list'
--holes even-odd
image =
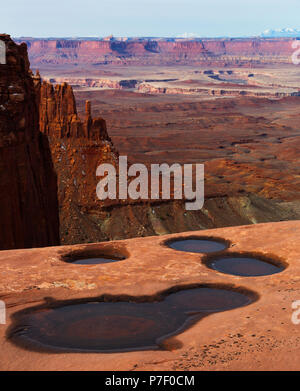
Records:
{"label": "dark shadowed red cliff face at the far left edge", "polygon": [[0,249],[59,243],[56,176],[39,111],[26,45],[0,35]]}

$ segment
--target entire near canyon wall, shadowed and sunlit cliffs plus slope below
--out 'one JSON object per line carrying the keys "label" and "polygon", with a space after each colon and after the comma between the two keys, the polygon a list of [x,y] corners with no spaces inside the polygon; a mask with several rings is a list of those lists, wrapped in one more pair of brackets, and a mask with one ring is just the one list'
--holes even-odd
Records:
{"label": "entire near canyon wall, shadowed and sunlit cliffs plus slope below", "polygon": [[26,45],[0,39],[7,47],[0,65],[1,249],[299,218],[276,201],[238,192],[207,197],[197,212],[183,201],[99,201],[97,167],[118,165],[105,120],[92,118],[89,101],[81,119],[68,84],[42,82],[29,70]]}

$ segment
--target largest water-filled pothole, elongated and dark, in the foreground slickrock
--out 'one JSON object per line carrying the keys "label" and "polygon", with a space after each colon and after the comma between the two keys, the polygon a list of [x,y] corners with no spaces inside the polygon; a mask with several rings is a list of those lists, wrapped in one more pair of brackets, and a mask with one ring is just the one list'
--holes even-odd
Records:
{"label": "largest water-filled pothole, elongated and dark, in the foreground slickrock", "polygon": [[228,287],[178,289],[156,297],[108,296],[23,310],[13,316],[8,337],[38,351],[159,349],[204,316],[246,306],[257,298],[248,290]]}

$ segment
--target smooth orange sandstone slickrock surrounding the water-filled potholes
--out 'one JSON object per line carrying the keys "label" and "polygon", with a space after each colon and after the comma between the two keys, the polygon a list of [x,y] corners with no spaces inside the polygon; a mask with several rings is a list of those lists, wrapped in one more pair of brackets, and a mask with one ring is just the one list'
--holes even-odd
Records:
{"label": "smooth orange sandstone slickrock surrounding the water-filled potholes", "polygon": [[[182,253],[166,240],[190,235],[228,240],[227,252],[255,252],[282,260],[281,273],[245,278],[206,267],[204,254]],[[7,304],[7,325],[0,325],[0,370],[290,370],[299,371],[299,327],[291,305],[300,298],[300,221],[229,227],[180,235],[0,253],[0,297]],[[64,262],[71,254],[91,252],[127,256],[123,262],[82,266]],[[18,279],[16,279],[18,273]],[[7,339],[19,311],[57,301],[141,301],[174,287],[209,284],[255,292],[249,306],[210,314],[158,351],[49,353],[23,349]]]}

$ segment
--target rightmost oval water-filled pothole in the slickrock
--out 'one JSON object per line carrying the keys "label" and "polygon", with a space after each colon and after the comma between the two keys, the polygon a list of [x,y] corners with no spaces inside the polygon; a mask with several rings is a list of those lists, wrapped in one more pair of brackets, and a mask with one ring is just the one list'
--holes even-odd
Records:
{"label": "rightmost oval water-filled pothole in the slickrock", "polygon": [[275,259],[254,254],[226,254],[210,257],[204,263],[211,269],[243,277],[259,277],[280,273],[285,265]]}

